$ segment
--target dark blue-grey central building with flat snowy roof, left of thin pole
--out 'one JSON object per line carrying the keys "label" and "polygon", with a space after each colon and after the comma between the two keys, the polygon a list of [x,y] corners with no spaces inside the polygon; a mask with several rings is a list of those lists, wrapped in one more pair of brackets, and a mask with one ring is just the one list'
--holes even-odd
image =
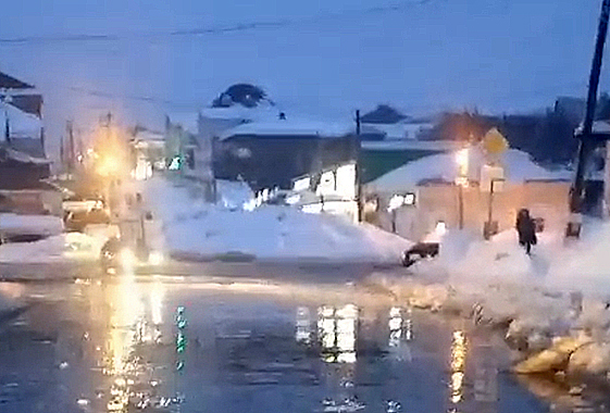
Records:
{"label": "dark blue-grey central building with flat snowy roof, left of thin pole", "polygon": [[219,136],[217,178],[242,178],[252,189],[290,189],[292,179],[354,162],[359,141],[353,125],[281,120],[245,123]]}

